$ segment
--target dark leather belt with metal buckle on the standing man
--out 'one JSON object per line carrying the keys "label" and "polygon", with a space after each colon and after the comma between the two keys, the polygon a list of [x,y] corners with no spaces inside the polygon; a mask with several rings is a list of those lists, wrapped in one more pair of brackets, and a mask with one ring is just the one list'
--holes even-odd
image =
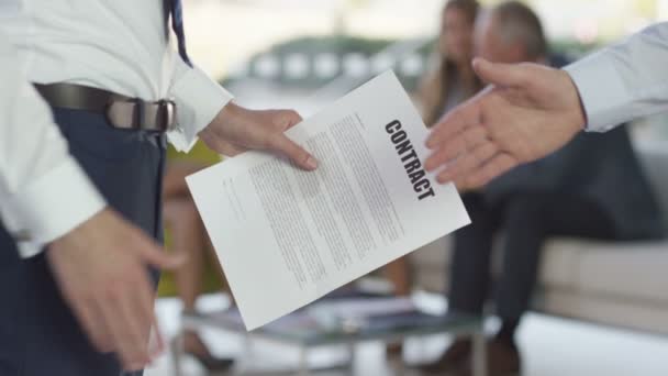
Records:
{"label": "dark leather belt with metal buckle on the standing man", "polygon": [[34,84],[53,108],[102,113],[119,129],[166,132],[176,123],[176,103],[130,98],[115,92],[74,84]]}

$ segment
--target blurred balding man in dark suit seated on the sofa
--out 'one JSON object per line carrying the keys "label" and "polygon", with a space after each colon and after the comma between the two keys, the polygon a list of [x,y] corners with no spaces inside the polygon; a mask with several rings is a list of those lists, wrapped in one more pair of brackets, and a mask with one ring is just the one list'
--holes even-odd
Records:
{"label": "blurred balding man in dark suit seated on the sofa", "polygon": [[[476,53],[500,63],[547,63],[536,14],[505,2],[476,25]],[[494,235],[503,231],[503,262],[496,280],[500,330],[488,341],[490,375],[516,375],[515,332],[536,284],[541,248],[553,236],[609,241],[664,236],[658,206],[632,150],[627,130],[581,133],[564,150],[463,195],[472,224],[455,233],[448,311],[483,314],[491,283]],[[470,373],[471,343],[456,339],[427,374]]]}

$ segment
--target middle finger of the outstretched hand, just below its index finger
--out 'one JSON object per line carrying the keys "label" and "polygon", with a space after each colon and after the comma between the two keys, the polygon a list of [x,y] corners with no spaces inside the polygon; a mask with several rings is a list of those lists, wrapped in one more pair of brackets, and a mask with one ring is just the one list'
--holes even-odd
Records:
{"label": "middle finger of the outstretched hand, just below its index finger", "polygon": [[432,153],[424,162],[424,168],[427,172],[434,172],[445,164],[454,163],[459,155],[486,142],[488,142],[488,135],[483,126],[469,126],[453,139],[445,141]]}

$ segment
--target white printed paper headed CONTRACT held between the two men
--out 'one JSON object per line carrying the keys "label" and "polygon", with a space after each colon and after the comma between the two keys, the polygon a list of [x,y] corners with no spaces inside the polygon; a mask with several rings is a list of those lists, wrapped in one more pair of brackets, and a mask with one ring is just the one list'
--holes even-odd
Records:
{"label": "white printed paper headed CONTRACT held between the two men", "polygon": [[247,152],[187,178],[248,330],[470,222],[425,173],[427,131],[392,71],[287,134],[315,172]]}

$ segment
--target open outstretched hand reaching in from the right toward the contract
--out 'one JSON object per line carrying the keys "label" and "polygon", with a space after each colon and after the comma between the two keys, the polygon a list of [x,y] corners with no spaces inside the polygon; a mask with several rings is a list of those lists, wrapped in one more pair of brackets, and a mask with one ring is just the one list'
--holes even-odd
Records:
{"label": "open outstretched hand reaching in from the right toward the contract", "polygon": [[538,159],[569,142],[586,122],[578,90],[560,69],[474,60],[490,84],[448,112],[432,130],[425,168],[441,184],[485,186],[509,169]]}

